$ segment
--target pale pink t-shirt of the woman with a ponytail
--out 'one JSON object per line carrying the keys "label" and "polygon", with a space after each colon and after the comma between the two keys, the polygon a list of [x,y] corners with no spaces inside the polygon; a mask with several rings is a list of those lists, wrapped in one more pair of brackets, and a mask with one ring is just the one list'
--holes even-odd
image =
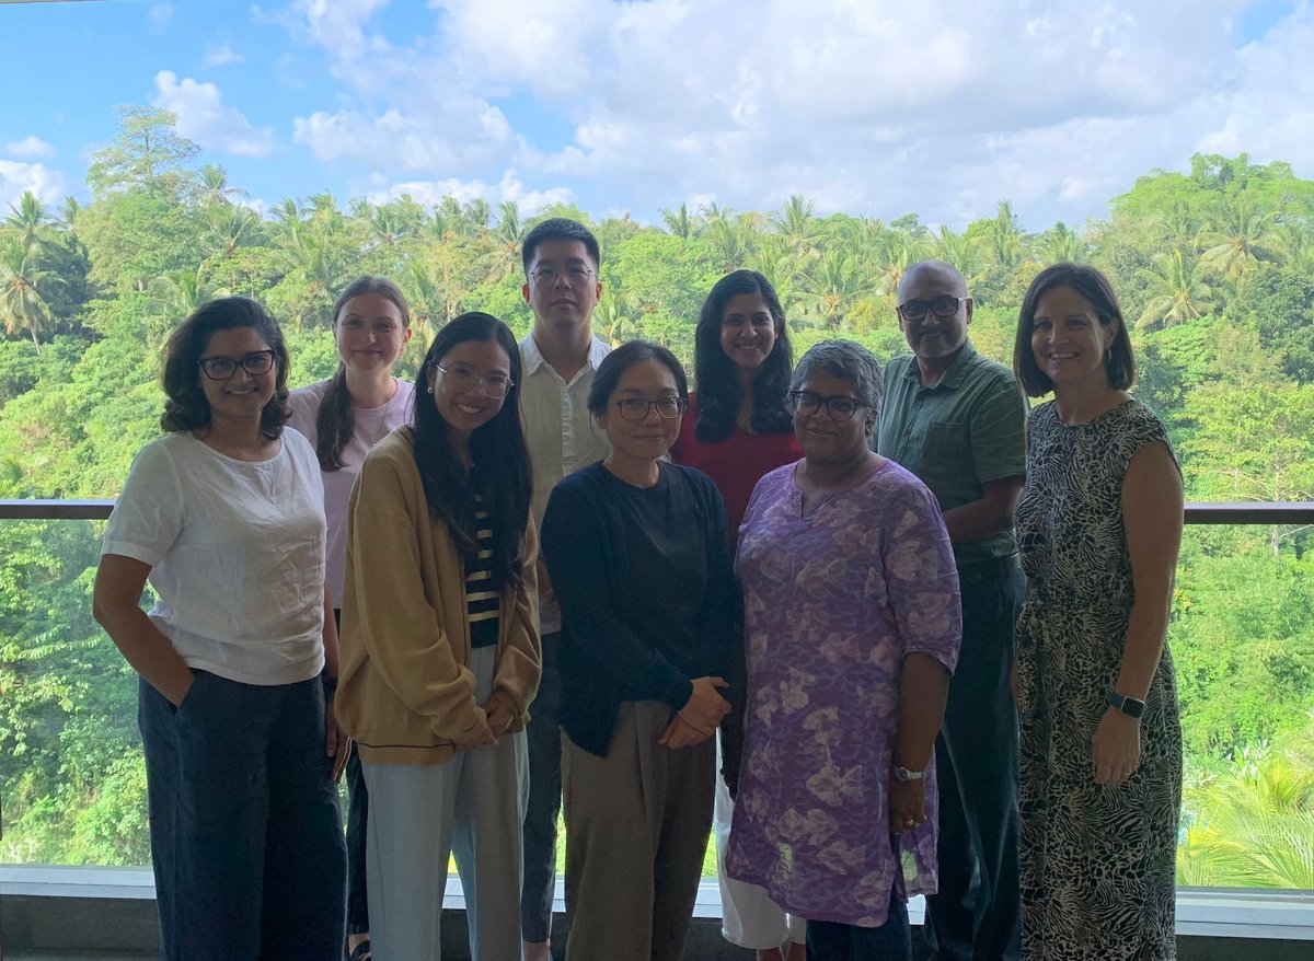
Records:
{"label": "pale pink t-shirt of the woman with a ponytail", "polygon": [[[328,517],[328,587],[332,589],[332,603],[339,608],[342,607],[342,575],[347,565],[347,500],[351,498],[351,487],[356,483],[360,465],[369,449],[402,424],[410,423],[411,398],[415,396],[415,387],[406,381],[394,379],[394,383],[397,390],[393,393],[393,399],[382,407],[351,408],[356,431],[342,449],[342,469],[323,473],[325,513]],[[328,381],[319,381],[309,387],[297,387],[288,396],[288,406],[292,408],[288,427],[301,431],[310,441],[311,448],[319,445],[315,419],[319,416],[319,403],[323,400],[326,390],[328,390]]]}

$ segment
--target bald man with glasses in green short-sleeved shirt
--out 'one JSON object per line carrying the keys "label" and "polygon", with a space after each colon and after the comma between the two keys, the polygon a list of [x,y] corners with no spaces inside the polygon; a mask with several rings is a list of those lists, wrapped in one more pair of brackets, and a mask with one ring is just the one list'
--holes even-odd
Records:
{"label": "bald man with glasses in green short-sleeved shirt", "polygon": [[876,452],[932,490],[954,545],[963,646],[936,742],[940,893],[924,933],[940,961],[1017,958],[1017,714],[1009,691],[1022,572],[1013,509],[1026,470],[1026,399],[967,339],[972,299],[951,265],[904,274]]}

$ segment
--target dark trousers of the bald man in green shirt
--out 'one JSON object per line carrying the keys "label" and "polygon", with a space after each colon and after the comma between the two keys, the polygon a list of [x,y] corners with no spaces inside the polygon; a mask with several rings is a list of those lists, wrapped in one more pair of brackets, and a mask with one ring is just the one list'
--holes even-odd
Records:
{"label": "dark trousers of the bald man in green shirt", "polygon": [[936,739],[940,893],[922,933],[940,961],[1016,961],[1017,710],[1009,692],[1021,571],[963,587],[963,647]]}

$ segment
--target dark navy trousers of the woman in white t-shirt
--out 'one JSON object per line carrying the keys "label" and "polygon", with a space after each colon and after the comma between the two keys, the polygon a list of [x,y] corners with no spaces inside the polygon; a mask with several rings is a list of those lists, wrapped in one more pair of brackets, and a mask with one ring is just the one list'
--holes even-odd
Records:
{"label": "dark navy trousers of the woman in white t-shirt", "polygon": [[162,961],[338,961],[347,857],[318,679],[138,684]]}

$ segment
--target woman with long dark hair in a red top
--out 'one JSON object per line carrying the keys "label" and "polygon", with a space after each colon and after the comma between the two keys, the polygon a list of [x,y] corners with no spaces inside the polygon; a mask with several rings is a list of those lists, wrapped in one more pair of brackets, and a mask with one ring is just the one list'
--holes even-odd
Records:
{"label": "woman with long dark hair in a red top", "polygon": [[[698,390],[689,395],[689,412],[670,453],[716,483],[725,500],[725,529],[733,551],[753,487],[767,471],[803,457],[792,414],[784,406],[794,352],[781,299],[766,277],[756,270],[736,270],[716,282],[698,318],[694,369]],[[737,740],[741,713],[725,723],[727,776],[716,786],[714,821],[721,933],[731,944],[756,950],[758,961],[802,961],[802,919],[787,918],[763,889],[733,881],[723,870],[735,810],[725,781],[737,780],[738,751],[731,744]]]}

